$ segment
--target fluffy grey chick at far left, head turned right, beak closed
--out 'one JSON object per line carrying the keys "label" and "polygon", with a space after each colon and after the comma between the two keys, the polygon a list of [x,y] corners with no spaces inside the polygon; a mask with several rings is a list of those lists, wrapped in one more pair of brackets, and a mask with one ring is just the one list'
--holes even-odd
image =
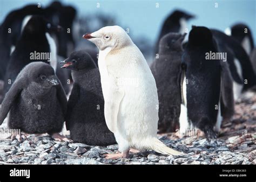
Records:
{"label": "fluffy grey chick at far left, head turned right, beak closed", "polygon": [[9,128],[53,135],[62,130],[66,104],[66,95],[53,68],[44,62],[31,62],[4,97],[0,124],[10,111]]}

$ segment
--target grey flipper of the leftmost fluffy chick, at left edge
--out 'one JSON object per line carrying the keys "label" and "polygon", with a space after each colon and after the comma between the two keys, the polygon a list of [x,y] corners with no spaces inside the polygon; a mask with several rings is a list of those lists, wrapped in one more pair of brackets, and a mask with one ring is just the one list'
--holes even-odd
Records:
{"label": "grey flipper of the leftmost fluffy chick, at left edge", "polygon": [[5,117],[9,113],[12,103],[15,101],[17,96],[22,92],[23,87],[21,83],[22,82],[19,81],[19,79],[17,78],[16,81],[12,84],[9,91],[5,94],[0,110],[0,125],[3,123]]}

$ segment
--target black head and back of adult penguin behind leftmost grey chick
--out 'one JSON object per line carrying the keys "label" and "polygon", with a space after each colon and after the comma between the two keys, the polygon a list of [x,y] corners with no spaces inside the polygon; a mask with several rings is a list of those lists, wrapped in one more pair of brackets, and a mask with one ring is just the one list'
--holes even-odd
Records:
{"label": "black head and back of adult penguin behind leftmost grey chick", "polygon": [[15,51],[11,54],[5,74],[5,93],[8,92],[11,84],[24,66],[30,62],[38,61],[37,58],[40,58],[37,57],[38,53],[46,55],[44,59],[40,58],[40,61],[49,63],[47,55],[50,55],[50,44],[46,38],[46,33],[58,29],[58,26],[52,25],[41,16],[30,18],[16,44]]}

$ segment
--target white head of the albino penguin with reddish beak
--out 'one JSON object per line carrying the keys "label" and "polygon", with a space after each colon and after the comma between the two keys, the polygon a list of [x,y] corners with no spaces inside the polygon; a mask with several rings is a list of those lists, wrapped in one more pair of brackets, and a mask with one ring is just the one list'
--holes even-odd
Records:
{"label": "white head of the albino penguin with reddish beak", "polygon": [[94,43],[100,51],[107,47],[113,50],[133,44],[131,38],[120,26],[105,26],[96,32],[84,34],[83,38]]}

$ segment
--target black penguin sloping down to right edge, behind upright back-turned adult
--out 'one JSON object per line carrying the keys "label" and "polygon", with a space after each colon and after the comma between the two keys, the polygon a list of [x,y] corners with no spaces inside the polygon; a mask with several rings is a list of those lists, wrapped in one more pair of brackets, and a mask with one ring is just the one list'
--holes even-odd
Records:
{"label": "black penguin sloping down to right edge, behind upright back-turned adult", "polygon": [[[227,62],[230,65],[234,82],[241,85],[243,90],[256,85],[256,77],[250,58],[240,43],[221,31],[211,29],[211,32],[214,39],[217,40],[219,51],[227,52]],[[235,90],[234,95],[238,95],[235,93]]]}

